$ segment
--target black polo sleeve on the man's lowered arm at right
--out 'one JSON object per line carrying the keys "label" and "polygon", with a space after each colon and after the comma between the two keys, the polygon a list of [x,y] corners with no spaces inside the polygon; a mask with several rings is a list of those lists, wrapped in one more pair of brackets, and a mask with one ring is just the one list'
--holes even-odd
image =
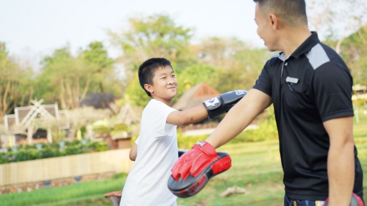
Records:
{"label": "black polo sleeve on the man's lowered arm at right", "polygon": [[353,116],[353,79],[346,66],[326,63],[315,70],[311,88],[323,122]]}

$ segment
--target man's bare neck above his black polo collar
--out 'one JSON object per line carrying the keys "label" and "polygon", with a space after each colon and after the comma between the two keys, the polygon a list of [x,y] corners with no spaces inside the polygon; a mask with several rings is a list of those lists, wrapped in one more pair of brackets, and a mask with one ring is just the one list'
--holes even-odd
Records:
{"label": "man's bare neck above his black polo collar", "polygon": [[307,26],[290,28],[283,31],[280,40],[280,50],[284,52],[286,57],[290,56],[301,44],[311,36],[311,31]]}

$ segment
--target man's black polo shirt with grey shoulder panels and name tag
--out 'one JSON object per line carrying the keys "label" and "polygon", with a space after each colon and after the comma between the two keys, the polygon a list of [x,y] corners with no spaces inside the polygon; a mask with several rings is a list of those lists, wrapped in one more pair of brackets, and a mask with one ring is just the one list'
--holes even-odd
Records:
{"label": "man's black polo shirt with grey shoulder panels and name tag", "polygon": [[[324,200],[328,196],[329,136],[323,122],[353,116],[350,72],[342,58],[313,32],[288,58],[268,60],[254,86],[272,97],[279,131],[286,195]],[[362,196],[362,169],[355,150],[353,192]]]}

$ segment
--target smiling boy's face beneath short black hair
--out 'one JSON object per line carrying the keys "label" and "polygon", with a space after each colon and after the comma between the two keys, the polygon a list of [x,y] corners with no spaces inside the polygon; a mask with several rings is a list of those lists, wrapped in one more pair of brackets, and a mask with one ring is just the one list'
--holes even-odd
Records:
{"label": "smiling boy's face beneath short black hair", "polygon": [[178,82],[171,66],[159,68],[154,75],[152,89],[154,95],[170,100],[177,94]]}

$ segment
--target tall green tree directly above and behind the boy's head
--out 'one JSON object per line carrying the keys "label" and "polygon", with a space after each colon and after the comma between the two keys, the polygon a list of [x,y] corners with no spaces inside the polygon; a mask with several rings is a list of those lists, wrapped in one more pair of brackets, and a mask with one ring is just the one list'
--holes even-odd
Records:
{"label": "tall green tree directly above and behind the boy's head", "polygon": [[165,57],[179,68],[193,61],[188,50],[193,28],[177,25],[162,14],[130,18],[129,24],[127,31],[109,32],[112,42],[123,50],[120,60],[128,70],[137,71],[141,62],[152,57]]}

